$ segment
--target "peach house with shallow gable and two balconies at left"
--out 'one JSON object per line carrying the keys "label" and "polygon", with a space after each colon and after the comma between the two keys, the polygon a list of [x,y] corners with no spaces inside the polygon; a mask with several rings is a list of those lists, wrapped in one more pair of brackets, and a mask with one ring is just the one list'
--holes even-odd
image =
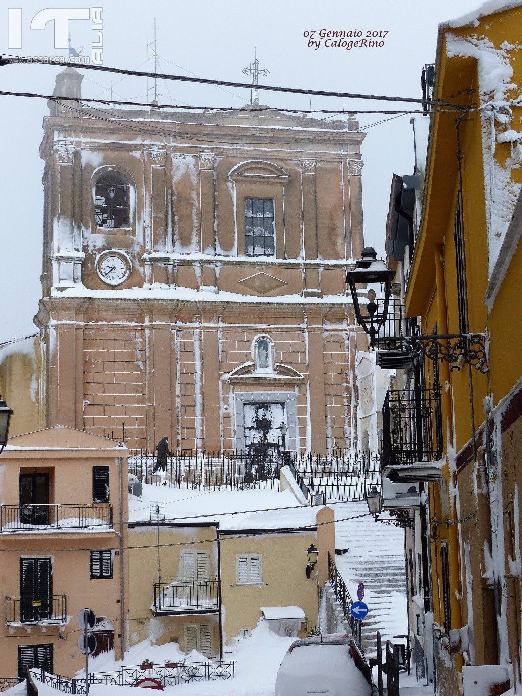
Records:
{"label": "peach house with shallow gable and two balconies at left", "polygon": [[0,677],[84,665],[77,614],[97,616],[98,650],[127,639],[128,450],[55,426],[0,455]]}

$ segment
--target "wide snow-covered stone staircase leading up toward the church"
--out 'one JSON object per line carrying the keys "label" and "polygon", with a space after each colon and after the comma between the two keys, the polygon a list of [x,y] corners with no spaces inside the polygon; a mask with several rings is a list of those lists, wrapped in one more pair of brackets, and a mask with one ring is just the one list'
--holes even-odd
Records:
{"label": "wide snow-covered stone staircase leading up toward the church", "polygon": [[[365,583],[363,601],[370,611],[362,626],[363,648],[368,656],[375,655],[377,629],[381,631],[383,646],[394,635],[408,632],[404,532],[393,525],[375,524],[364,501],[336,503],[333,508],[335,546],[349,549],[348,553],[335,556],[335,563],[354,601],[358,583]],[[381,518],[386,519],[387,515],[383,513]],[[348,628],[333,588],[328,585],[326,596],[343,628]]]}

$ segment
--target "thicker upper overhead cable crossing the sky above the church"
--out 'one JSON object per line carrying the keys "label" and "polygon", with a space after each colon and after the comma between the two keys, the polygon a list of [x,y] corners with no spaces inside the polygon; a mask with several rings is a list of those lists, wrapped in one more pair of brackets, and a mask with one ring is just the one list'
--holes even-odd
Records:
{"label": "thicker upper overhead cable crossing the sky above the church", "polygon": [[[242,87],[251,89],[250,82],[235,82],[230,80],[216,80],[207,77],[195,77],[187,75],[173,75],[168,73],[158,74],[157,72],[147,72],[145,70],[127,70],[126,68],[110,68],[109,65],[78,65],[69,61],[57,61],[54,58],[31,58],[30,56],[13,56],[5,58],[0,55],[0,66],[16,65],[17,63],[33,63],[35,65],[54,65],[58,68],[70,67],[81,70],[99,70],[100,72],[111,72],[123,75],[134,75],[134,77],[150,77],[153,79],[177,80],[180,82],[196,82],[197,84],[207,84],[226,87]],[[453,109],[465,110],[458,104],[448,104],[438,100],[418,99],[413,97],[393,97],[388,95],[358,94],[352,92],[330,92],[328,90],[302,89],[298,87],[280,87],[276,85],[260,85],[260,89],[267,92],[285,92],[289,94],[303,94],[314,97],[339,97],[341,99],[360,99],[373,100],[377,102],[406,102],[409,104],[424,104],[425,106],[450,106]]]}

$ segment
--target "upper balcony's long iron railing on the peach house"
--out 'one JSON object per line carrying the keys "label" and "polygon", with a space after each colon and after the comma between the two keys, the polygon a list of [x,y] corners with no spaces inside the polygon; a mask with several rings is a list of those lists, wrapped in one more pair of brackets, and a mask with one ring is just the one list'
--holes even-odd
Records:
{"label": "upper balcony's long iron railing on the peach house", "polygon": [[0,532],[112,527],[112,504],[0,505]]}

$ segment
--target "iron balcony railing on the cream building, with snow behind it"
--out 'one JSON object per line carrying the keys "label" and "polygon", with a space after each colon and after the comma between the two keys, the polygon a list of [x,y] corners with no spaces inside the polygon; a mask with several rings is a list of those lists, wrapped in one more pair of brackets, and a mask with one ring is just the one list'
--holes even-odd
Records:
{"label": "iron balcony railing on the cream building, with snow behind it", "polygon": [[216,582],[154,583],[156,614],[219,610],[219,586]]}

